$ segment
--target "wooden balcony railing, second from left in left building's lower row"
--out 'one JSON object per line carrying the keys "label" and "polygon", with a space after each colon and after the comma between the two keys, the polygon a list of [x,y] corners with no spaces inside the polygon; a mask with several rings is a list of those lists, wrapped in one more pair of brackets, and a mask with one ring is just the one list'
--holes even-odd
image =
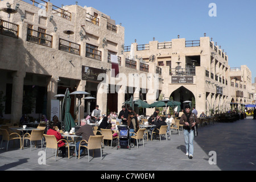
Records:
{"label": "wooden balcony railing, second from left in left building's lower row", "polygon": [[42,46],[52,47],[52,35],[27,28],[27,41],[40,44]]}

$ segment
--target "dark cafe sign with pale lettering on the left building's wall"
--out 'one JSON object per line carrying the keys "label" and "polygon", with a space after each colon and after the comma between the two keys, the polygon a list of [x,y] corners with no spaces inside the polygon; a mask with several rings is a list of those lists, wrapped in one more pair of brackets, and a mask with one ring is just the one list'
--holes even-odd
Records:
{"label": "dark cafe sign with pale lettering on the left building's wall", "polygon": [[82,66],[82,80],[101,82],[98,80],[100,73],[106,73],[106,70]]}

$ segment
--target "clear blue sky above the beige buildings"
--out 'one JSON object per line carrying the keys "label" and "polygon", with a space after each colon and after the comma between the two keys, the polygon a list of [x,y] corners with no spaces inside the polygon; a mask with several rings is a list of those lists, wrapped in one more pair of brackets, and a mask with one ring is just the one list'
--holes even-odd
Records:
{"label": "clear blue sky above the beige buildings", "polygon": [[[51,0],[53,5],[75,5],[76,1]],[[210,17],[210,3],[217,16]],[[125,27],[125,46],[137,39],[146,44],[155,37],[159,42],[176,39],[213,38],[229,56],[230,67],[247,65],[256,77],[256,1],[243,0],[97,0],[78,1],[94,7]]]}

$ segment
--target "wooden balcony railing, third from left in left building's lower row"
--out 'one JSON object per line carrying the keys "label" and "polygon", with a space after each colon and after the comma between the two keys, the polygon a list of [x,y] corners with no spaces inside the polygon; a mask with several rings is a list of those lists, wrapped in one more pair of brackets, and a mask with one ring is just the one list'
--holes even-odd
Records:
{"label": "wooden balcony railing, third from left in left building's lower row", "polygon": [[80,44],[70,42],[68,40],[60,39],[59,50],[74,53],[75,55],[80,55]]}

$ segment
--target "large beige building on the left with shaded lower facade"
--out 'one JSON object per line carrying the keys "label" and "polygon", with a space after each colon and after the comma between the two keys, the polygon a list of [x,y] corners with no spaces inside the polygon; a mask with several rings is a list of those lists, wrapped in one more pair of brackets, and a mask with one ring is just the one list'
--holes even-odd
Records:
{"label": "large beige building on the left with shaded lower facade", "polygon": [[[136,87],[128,83],[138,81],[136,76],[154,75],[155,65],[126,59],[125,28],[109,15],[93,7],[57,7],[43,0],[4,0],[0,10],[0,90],[6,96],[3,117],[18,122],[23,113],[34,118],[43,113],[49,119],[51,100],[66,88],[88,92],[96,98],[90,112],[97,104],[102,114],[120,111],[130,96],[150,98],[142,90],[149,90],[144,83],[153,77],[141,78]],[[122,75],[112,76],[112,55]],[[98,80],[101,73],[108,82]],[[154,90],[151,93],[156,95]],[[89,111],[88,101],[82,100],[80,108],[83,118]],[[71,114],[77,118],[75,96]]]}

